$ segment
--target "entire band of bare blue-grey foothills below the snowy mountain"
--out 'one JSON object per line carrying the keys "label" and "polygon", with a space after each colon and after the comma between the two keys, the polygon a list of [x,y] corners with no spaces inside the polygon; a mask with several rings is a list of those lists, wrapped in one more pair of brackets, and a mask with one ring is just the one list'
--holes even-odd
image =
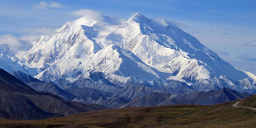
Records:
{"label": "entire band of bare blue-grey foothills below the snowy mountain", "polygon": [[[109,108],[120,107],[154,107],[178,104],[213,105],[223,102],[231,102],[250,95],[246,92],[240,93],[230,88],[220,88],[208,92],[187,92],[171,94],[158,92],[155,88],[145,85],[133,85],[123,88],[121,94],[103,92],[88,87],[70,86],[61,89],[54,83],[45,83],[21,72],[11,73],[22,82],[39,92],[50,92],[59,97],[84,104],[98,104]],[[174,84],[174,83],[173,83]],[[137,93],[134,93],[137,92]]]}

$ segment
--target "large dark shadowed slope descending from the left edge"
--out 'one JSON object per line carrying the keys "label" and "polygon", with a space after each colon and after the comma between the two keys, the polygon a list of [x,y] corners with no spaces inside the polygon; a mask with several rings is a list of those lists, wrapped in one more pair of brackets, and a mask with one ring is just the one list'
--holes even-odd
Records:
{"label": "large dark shadowed slope descending from the left edge", "polygon": [[0,69],[0,117],[27,120],[67,116],[105,107],[69,102],[51,93],[36,92]]}

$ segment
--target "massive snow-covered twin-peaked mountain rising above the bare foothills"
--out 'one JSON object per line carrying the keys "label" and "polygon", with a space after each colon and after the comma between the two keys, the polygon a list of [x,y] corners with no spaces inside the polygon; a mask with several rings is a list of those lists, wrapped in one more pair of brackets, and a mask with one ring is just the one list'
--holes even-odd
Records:
{"label": "massive snow-covered twin-peaked mountain rising above the bare foothills", "polygon": [[102,86],[144,83],[169,88],[168,82],[176,80],[198,91],[225,87],[256,92],[253,77],[220,59],[195,37],[171,21],[138,13],[127,21],[106,16],[68,21],[54,36],[41,36],[22,60],[39,69],[36,78],[58,85],[100,73],[100,80],[94,82]]}

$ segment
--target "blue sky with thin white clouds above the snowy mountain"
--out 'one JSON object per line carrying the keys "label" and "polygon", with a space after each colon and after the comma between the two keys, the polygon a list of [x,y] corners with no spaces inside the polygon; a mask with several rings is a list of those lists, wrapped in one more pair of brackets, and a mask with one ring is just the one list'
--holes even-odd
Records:
{"label": "blue sky with thin white clouds above the snowy mountain", "polygon": [[82,9],[174,21],[221,58],[256,73],[255,0],[0,0],[0,44],[27,50],[31,40],[78,18],[73,12]]}

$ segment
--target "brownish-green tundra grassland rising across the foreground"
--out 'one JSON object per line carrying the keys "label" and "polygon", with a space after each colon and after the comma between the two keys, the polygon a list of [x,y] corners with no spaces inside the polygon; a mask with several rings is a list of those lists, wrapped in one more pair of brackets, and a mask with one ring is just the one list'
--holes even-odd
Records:
{"label": "brownish-green tundra grassland rising across the foreground", "polygon": [[255,127],[256,112],[231,107],[232,103],[123,108],[40,121],[0,120],[0,127]]}

